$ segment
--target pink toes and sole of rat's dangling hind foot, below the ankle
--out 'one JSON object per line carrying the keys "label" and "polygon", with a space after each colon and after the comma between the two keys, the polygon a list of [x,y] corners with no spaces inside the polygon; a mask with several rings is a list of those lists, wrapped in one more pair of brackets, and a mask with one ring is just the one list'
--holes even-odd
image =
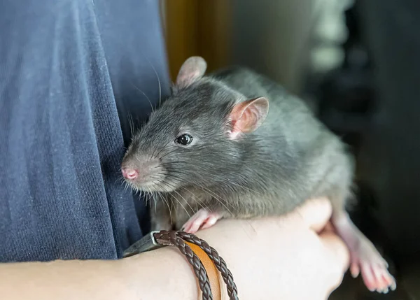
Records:
{"label": "pink toes and sole of rat's dangling hind foot, below the ankle", "polygon": [[388,271],[388,263],[369,241],[361,240],[357,250],[351,250],[350,272],[353,277],[362,273],[363,282],[370,291],[386,294],[395,290],[397,283]]}

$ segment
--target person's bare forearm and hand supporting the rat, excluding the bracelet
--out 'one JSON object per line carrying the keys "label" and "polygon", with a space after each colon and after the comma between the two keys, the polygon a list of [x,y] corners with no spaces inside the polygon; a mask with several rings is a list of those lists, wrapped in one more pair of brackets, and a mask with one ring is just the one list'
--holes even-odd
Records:
{"label": "person's bare forearm and hand supporting the rat, excluding the bracelet", "polygon": [[[197,236],[225,259],[240,299],[324,300],[349,264],[338,236],[317,233],[331,210],[326,199],[309,201],[279,218],[221,220]],[[0,264],[0,291],[10,300],[199,299],[193,270],[172,247],[111,262]]]}

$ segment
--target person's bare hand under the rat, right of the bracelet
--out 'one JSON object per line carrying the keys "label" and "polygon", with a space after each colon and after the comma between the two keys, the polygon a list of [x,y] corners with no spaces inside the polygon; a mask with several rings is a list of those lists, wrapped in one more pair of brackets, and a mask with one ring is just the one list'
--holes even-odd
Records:
{"label": "person's bare hand under the rat, right of the bracelet", "polygon": [[225,259],[239,299],[327,299],[349,266],[331,213],[330,201],[314,199],[283,217],[220,220],[197,236]]}

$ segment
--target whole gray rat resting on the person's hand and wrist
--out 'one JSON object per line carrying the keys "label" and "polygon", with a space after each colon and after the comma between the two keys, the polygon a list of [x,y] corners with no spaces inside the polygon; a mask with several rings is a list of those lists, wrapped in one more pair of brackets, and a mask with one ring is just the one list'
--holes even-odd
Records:
{"label": "whole gray rat resting on the person's hand and wrist", "polygon": [[126,182],[155,197],[152,229],[195,233],[222,217],[283,215],[328,197],[352,275],[361,272],[370,290],[395,290],[388,264],[346,213],[354,173],[346,145],[269,78],[241,67],[206,69],[202,57],[184,62],[172,95],[123,159]]}

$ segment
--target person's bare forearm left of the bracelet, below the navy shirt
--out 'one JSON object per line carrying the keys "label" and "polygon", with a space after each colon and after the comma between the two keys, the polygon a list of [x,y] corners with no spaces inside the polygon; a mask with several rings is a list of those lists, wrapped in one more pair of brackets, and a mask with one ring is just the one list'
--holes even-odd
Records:
{"label": "person's bare forearm left of the bracelet, below the navy shirt", "polygon": [[0,264],[1,299],[198,299],[189,264],[173,248],[118,261]]}

